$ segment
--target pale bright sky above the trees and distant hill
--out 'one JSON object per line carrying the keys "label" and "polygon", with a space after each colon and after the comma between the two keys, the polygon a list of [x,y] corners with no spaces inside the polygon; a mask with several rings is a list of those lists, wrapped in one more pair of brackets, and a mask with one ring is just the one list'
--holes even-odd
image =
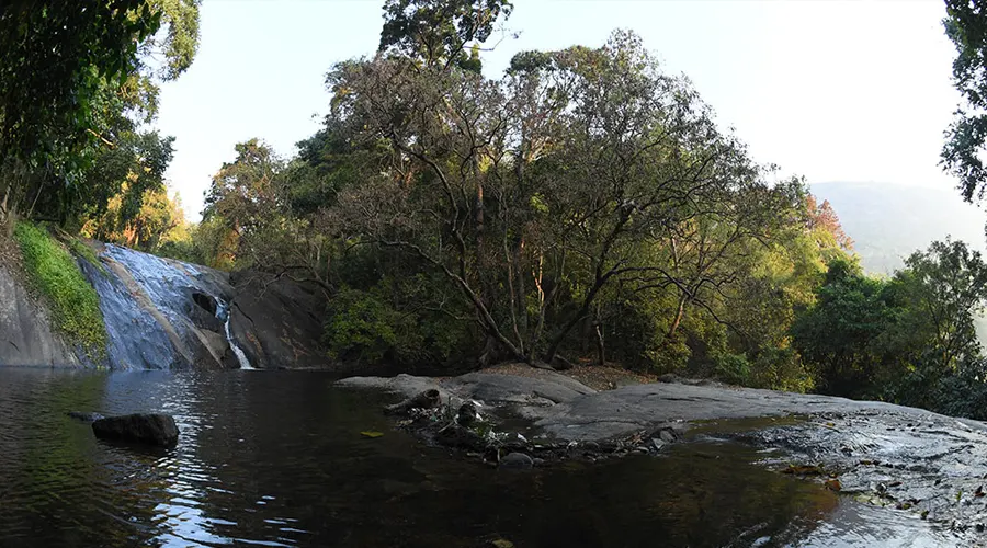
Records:
{"label": "pale bright sky above the trees and distant hill", "polygon": [[[236,142],[259,137],[288,157],[318,129],[325,73],[374,52],[382,4],[204,1],[198,55],[163,85],[157,124],[177,137],[168,178],[191,220]],[[486,54],[484,71],[631,28],[784,174],[952,189],[937,165],[958,99],[943,15],[935,0],[514,0],[508,26],[521,37]]]}

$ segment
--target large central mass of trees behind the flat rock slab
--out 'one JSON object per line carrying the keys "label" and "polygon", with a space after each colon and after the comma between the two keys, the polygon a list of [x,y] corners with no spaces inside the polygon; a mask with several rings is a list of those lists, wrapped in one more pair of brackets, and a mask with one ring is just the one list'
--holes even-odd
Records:
{"label": "large central mass of trees behind the flat rock slab", "polygon": [[322,129],[292,159],[238,145],[190,249],[320,286],[339,359],[812,388],[787,329],[850,246],[828,204],[751,160],[633,33],[484,77],[465,53],[510,11],[388,2],[381,52],[328,73]]}

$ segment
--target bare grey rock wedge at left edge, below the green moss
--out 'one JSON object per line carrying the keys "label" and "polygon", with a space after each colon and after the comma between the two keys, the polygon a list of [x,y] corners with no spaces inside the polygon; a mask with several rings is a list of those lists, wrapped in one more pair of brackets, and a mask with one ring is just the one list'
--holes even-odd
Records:
{"label": "bare grey rock wedge at left edge, below the green moss", "polygon": [[75,352],[52,329],[48,311],[33,299],[12,269],[0,264],[0,364],[79,366]]}

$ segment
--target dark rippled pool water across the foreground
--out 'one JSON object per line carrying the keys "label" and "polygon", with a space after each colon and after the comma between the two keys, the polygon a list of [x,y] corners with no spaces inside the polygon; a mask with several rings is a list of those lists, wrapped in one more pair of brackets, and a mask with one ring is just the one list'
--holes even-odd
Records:
{"label": "dark rippled pool water across the foreground", "polygon": [[[731,444],[506,472],[390,429],[317,373],[0,368],[0,547],[938,546],[921,522],[748,465]],[[171,450],[68,411],[173,413]],[[384,432],[367,438],[361,431]],[[906,520],[900,522],[900,520]]]}

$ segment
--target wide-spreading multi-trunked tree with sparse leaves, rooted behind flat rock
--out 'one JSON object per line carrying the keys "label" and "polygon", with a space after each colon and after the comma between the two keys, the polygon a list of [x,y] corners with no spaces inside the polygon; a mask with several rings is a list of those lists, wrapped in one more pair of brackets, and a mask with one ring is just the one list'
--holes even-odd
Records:
{"label": "wide-spreading multi-trunked tree with sparse leaves, rooted behind flat rock", "polygon": [[[337,127],[393,153],[340,194],[340,226],[444,273],[506,356],[555,362],[621,281],[693,299],[642,246],[702,217],[730,247],[790,202],[633,34],[525,54],[501,81],[388,57],[341,64],[329,84]],[[724,253],[706,248],[695,285]]]}

